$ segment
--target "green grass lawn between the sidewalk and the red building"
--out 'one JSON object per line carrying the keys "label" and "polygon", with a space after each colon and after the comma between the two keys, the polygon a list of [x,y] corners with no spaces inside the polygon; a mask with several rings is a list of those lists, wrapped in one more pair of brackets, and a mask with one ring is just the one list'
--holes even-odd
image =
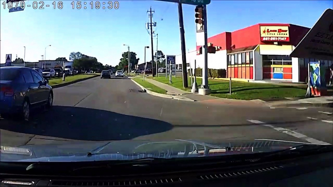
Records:
{"label": "green grass lawn between the sidewalk and the red building", "polygon": [[[153,78],[153,77],[149,77]],[[169,84],[169,79],[165,77],[154,77],[154,80]],[[198,87],[201,85],[201,78],[197,78]],[[212,93],[210,95],[231,98],[231,99],[262,99],[262,100],[279,100],[285,97],[304,97],[306,93],[306,85],[286,86],[268,83],[250,83],[250,82],[232,82],[232,94],[229,94],[229,81],[208,79],[208,84]],[[191,79],[188,78],[188,89],[183,89],[182,78],[172,78],[171,86],[190,91]]]}

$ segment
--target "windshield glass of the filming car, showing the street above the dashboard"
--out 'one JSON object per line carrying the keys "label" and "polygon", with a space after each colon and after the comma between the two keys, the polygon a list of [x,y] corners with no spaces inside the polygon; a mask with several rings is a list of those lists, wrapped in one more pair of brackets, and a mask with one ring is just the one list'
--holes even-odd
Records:
{"label": "windshield glass of the filming car, showing the street above the dashboard", "polygon": [[0,163],[333,144],[332,0],[0,1]]}

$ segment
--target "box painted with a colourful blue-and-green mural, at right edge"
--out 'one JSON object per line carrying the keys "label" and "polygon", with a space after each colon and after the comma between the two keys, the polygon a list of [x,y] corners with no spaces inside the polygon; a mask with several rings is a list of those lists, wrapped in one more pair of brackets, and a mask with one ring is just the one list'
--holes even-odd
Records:
{"label": "box painted with a colourful blue-and-green mural, at right edge", "polygon": [[314,96],[325,95],[327,92],[325,71],[325,64],[310,62],[310,89]]}

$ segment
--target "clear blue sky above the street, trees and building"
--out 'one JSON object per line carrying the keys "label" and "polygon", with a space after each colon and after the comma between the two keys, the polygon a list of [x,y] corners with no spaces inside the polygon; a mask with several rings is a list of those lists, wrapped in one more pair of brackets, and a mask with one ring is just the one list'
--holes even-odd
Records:
{"label": "clear blue sky above the street, trees and building", "polygon": [[[38,7],[44,2],[44,9]],[[55,9],[53,2],[55,1]],[[74,9],[72,2],[74,1]],[[108,2],[116,3],[108,9]],[[81,0],[82,7],[76,7],[76,0],[26,0],[24,11],[9,13],[4,0],[0,0],[0,63],[5,54],[16,55],[25,61],[37,62],[46,55],[46,60],[66,57],[71,52],[81,52],[96,57],[101,63],[115,66],[121,54],[130,50],[137,54],[139,63],[144,62],[144,47],[150,46],[150,35],[146,23],[147,11],[152,8],[157,37],[153,48],[165,55],[181,54],[178,5],[156,0],[99,0],[100,9],[91,9],[95,0]],[[86,2],[86,5],[83,3]],[[105,5],[102,4],[105,2]],[[32,5],[27,7],[27,5]],[[50,5],[50,7],[46,7]],[[86,7],[84,9],[83,7]],[[102,9],[102,7],[105,9]],[[208,37],[225,31],[236,31],[258,23],[289,23],[311,28],[321,14],[333,8],[333,0],[212,0],[207,5]],[[185,45],[187,51],[196,49],[195,6],[183,4]],[[151,60],[151,51],[146,51],[146,61]]]}

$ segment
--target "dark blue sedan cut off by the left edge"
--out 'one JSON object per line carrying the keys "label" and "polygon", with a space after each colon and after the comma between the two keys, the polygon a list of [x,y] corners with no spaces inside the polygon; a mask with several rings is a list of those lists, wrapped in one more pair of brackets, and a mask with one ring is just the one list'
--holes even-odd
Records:
{"label": "dark blue sedan cut off by the left edge", "polygon": [[29,121],[35,107],[53,105],[53,90],[37,71],[28,67],[0,67],[0,115],[18,114]]}

